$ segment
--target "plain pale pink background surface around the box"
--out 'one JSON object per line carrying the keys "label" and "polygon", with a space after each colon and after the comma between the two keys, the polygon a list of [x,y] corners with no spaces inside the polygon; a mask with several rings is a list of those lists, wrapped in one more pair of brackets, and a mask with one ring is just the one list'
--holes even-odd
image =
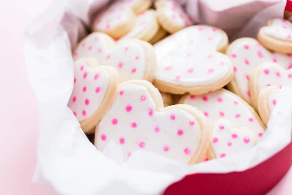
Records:
{"label": "plain pale pink background surface around the box", "polygon": [[[0,194],[55,195],[31,182],[37,160],[37,103],[22,54],[24,28],[52,0],[9,1],[0,0]],[[291,184],[292,169],[269,195],[290,195]]]}

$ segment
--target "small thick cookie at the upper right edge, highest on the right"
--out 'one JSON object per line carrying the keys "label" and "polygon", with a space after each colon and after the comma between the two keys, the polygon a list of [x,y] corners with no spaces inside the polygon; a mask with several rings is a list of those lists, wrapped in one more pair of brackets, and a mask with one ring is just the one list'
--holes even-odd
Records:
{"label": "small thick cookie at the upper right edge, highest on the right", "polygon": [[258,41],[266,48],[284,54],[292,53],[292,23],[285,19],[269,20],[257,34]]}

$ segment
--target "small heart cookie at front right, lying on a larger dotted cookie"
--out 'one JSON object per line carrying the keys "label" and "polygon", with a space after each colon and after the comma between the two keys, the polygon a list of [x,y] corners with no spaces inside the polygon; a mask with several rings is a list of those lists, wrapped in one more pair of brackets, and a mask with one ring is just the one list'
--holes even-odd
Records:
{"label": "small heart cookie at front right, lying on a larger dotted cookie", "polygon": [[220,119],[214,123],[208,159],[230,156],[256,145],[256,137],[248,128],[236,129],[230,121]]}

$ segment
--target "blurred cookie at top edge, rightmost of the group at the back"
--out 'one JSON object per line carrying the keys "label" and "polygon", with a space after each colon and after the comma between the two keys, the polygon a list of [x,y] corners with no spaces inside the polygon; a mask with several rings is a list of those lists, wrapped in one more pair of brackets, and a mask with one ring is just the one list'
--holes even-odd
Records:
{"label": "blurred cookie at top edge, rightmost of the group at the back", "polygon": [[157,0],[154,6],[161,26],[171,34],[193,23],[192,19],[175,0]]}

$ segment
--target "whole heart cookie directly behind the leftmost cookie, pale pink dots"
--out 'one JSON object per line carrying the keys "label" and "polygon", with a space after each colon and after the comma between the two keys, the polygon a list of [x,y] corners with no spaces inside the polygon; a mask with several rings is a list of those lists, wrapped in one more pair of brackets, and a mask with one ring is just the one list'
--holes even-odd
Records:
{"label": "whole heart cookie directly behind the leftmost cookie, pale pink dots", "polygon": [[146,41],[127,39],[115,43],[110,36],[94,32],[81,40],[73,59],[96,58],[101,65],[112,66],[119,73],[120,82],[130,79],[154,79],[156,58],[153,46]]}

